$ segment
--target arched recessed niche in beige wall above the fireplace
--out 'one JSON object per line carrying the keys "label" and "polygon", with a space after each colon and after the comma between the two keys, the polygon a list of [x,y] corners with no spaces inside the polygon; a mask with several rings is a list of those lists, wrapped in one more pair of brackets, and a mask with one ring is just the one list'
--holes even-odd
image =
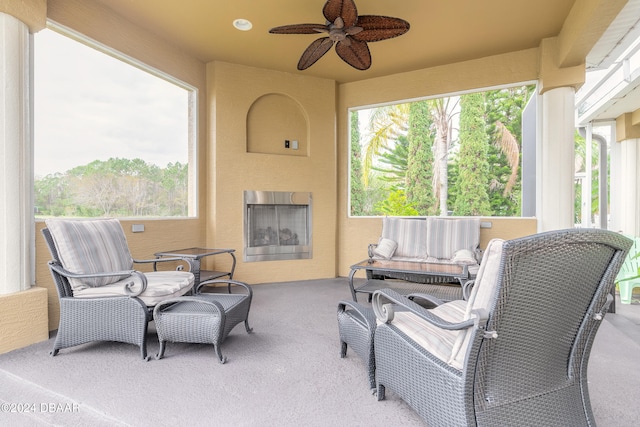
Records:
{"label": "arched recessed niche in beige wall above the fireplace", "polygon": [[247,152],[309,155],[309,123],[302,106],[290,96],[269,93],[247,113]]}

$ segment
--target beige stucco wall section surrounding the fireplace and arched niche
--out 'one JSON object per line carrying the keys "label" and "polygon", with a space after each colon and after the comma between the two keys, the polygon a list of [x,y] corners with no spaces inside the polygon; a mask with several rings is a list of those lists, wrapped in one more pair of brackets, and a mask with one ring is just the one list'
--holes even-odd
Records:
{"label": "beige stucco wall section surrounding the fireplace and arched niche", "polygon": [[[212,62],[207,67],[207,82],[207,244],[235,248],[235,277],[249,283],[335,277],[334,81]],[[299,104],[308,123],[307,156],[247,152],[247,113],[267,94],[283,94]],[[287,129],[265,127],[265,131],[272,135],[276,152],[285,139],[295,139]],[[313,258],[245,263],[244,190],[312,193]]]}

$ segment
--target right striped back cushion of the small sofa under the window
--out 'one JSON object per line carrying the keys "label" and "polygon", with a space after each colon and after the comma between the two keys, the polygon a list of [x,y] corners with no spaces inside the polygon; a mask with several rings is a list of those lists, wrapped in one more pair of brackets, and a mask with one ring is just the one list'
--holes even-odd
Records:
{"label": "right striped back cushion of the small sofa under the window", "polygon": [[456,251],[475,251],[480,245],[480,218],[428,217],[427,254],[438,259],[451,259]]}

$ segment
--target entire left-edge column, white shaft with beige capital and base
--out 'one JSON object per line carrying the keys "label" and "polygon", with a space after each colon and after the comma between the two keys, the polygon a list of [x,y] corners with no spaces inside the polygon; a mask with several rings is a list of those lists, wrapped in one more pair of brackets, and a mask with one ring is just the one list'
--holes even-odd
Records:
{"label": "entire left-edge column, white shaft with beige capital and base", "polygon": [[0,0],[0,353],[49,337],[47,289],[32,286],[30,32],[46,0]]}

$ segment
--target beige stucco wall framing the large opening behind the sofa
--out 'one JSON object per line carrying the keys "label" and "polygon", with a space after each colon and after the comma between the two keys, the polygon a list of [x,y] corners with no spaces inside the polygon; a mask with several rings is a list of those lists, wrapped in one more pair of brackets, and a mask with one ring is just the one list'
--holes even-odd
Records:
{"label": "beige stucco wall framing the large opening behind the sofa", "polygon": [[[532,82],[538,77],[539,49],[509,53],[474,61],[402,73],[338,87],[338,270],[349,274],[349,266],[366,258],[367,245],[380,236],[380,218],[348,216],[349,109],[367,105],[436,97],[510,83]],[[533,218],[490,218],[492,228],[482,229],[481,247],[493,237],[514,238],[533,234]]]}

